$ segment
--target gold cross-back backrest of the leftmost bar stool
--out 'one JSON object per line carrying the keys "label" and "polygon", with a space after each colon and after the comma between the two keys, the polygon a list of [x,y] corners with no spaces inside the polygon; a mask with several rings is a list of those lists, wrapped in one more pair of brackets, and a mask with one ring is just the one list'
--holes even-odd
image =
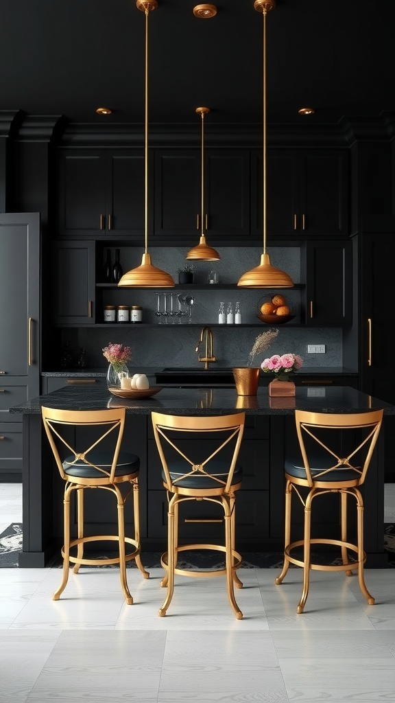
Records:
{"label": "gold cross-back backrest of the leftmost bar stool", "polygon": [[[67,480],[67,475],[63,469],[63,459],[60,458],[60,447],[67,449],[68,456],[74,456],[73,461],[84,462],[86,465],[92,466],[103,474],[103,478],[108,477],[108,482],[114,480],[115,469],[117,468],[117,460],[119,450],[121,448],[122,435],[124,432],[125,423],[125,408],[114,408],[111,410],[58,410],[56,408],[41,408],[41,415],[48,437],[49,444],[53,451],[53,456],[56,460],[56,465],[60,472],[60,476]],[[70,427],[95,427],[95,437],[82,437],[83,446],[72,446],[75,441],[70,439],[70,432],[67,432]],[[100,451],[101,444],[112,434],[112,464],[110,470],[105,470],[103,466],[96,466],[89,460],[89,454],[92,451]],[[93,439],[93,441],[92,441]],[[79,441],[81,441],[79,439]],[[61,452],[63,454],[63,451]],[[70,463],[70,465],[72,462]]]}

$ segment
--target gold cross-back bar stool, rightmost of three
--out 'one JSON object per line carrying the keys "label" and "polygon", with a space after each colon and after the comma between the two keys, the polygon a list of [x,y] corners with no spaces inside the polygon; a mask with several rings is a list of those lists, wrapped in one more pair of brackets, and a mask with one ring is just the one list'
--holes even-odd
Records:
{"label": "gold cross-back bar stool, rightmost of three", "polygon": [[[282,583],[290,563],[304,569],[303,591],[297,606],[302,613],[309,594],[311,569],[318,571],[345,571],[352,576],[358,569],[358,582],[369,605],[375,599],[370,595],[363,578],[366,554],[363,550],[363,498],[358,486],[365,481],[370,459],[375,449],[382,425],[382,410],[363,413],[309,413],[295,411],[297,437],[301,456],[285,460],[285,548],[283,571],[276,579]],[[334,432],[337,430],[337,432]],[[303,495],[306,488],[306,497]],[[304,538],[291,541],[292,494],[296,493],[304,505]],[[328,492],[340,496],[340,539],[311,538],[311,509],[313,499]],[[356,544],[347,539],[347,498],[354,496],[357,512]],[[342,563],[337,565],[311,562],[312,544],[325,544],[341,548]],[[303,547],[303,558],[298,559],[293,550]],[[350,560],[348,550],[356,554]]]}

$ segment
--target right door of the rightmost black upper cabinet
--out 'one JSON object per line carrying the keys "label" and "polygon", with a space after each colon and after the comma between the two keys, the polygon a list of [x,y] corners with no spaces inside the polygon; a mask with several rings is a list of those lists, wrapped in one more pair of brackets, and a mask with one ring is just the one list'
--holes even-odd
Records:
{"label": "right door of the rightmost black upper cabinet", "polygon": [[298,226],[307,236],[347,236],[347,158],[319,149],[301,157]]}

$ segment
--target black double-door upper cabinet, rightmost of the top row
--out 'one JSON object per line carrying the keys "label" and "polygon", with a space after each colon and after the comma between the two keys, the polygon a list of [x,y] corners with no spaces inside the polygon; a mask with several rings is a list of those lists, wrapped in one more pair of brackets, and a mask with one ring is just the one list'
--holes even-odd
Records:
{"label": "black double-door upper cabinet, rightmost of the top row", "polygon": [[[343,150],[268,149],[266,222],[275,238],[332,238],[349,234],[348,154]],[[262,236],[263,167],[251,156],[251,235]]]}

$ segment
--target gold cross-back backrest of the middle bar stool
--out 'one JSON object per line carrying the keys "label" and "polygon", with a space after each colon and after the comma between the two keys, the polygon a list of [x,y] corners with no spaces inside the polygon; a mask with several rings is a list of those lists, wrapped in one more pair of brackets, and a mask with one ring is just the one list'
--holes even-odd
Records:
{"label": "gold cross-back backrest of the middle bar stool", "polygon": [[[210,477],[218,491],[229,491],[244,432],[245,413],[205,417],[152,413],[152,420],[157,449],[170,491],[176,488],[177,482],[193,475]],[[193,443],[191,448],[181,442],[181,447],[180,439],[186,436],[188,439],[193,437],[203,441]],[[209,441],[212,439],[215,440],[214,443]],[[194,456],[187,456],[187,452],[193,452]],[[180,473],[176,479],[171,479],[170,475],[171,458],[180,460],[178,466],[185,466],[185,472]],[[218,476],[220,458],[226,463],[223,478]]]}

